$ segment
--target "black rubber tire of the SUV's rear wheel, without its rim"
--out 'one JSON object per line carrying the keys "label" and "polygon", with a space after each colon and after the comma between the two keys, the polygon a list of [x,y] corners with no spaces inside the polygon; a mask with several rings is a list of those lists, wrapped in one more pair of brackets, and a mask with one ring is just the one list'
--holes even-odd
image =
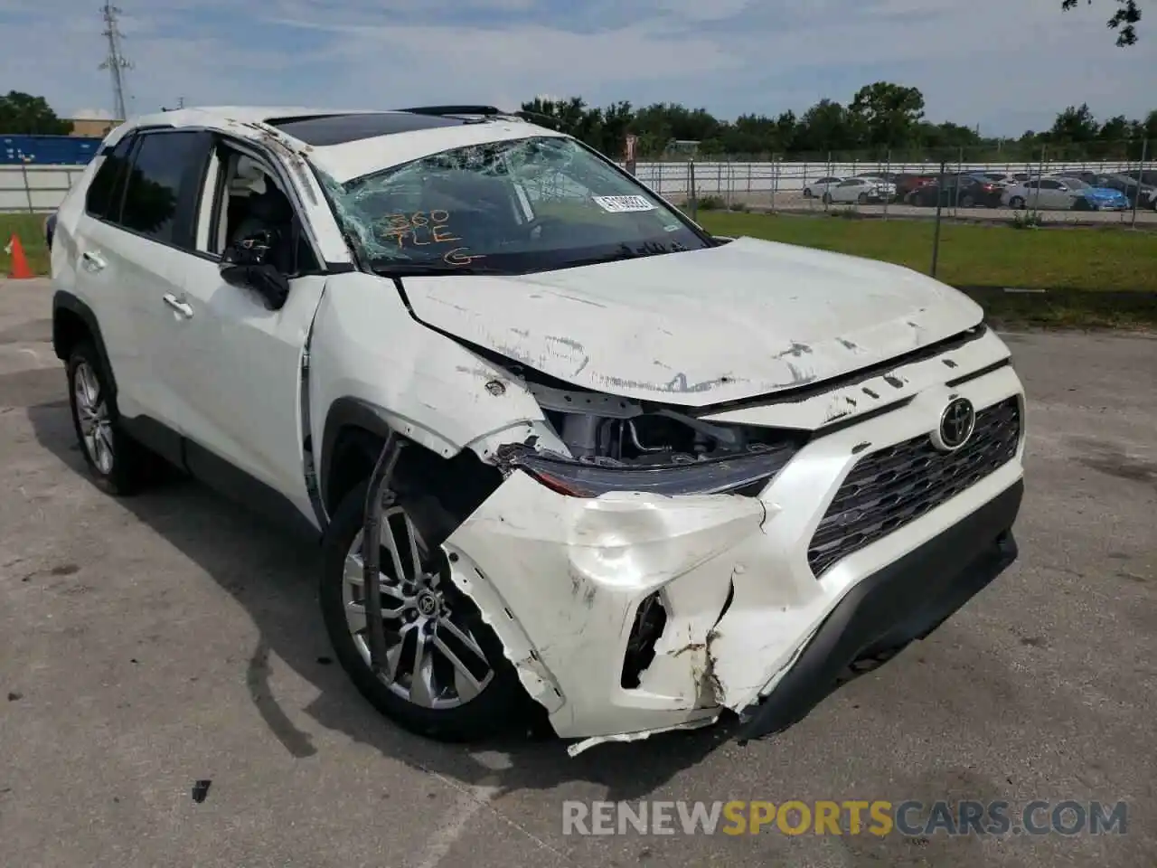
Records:
{"label": "black rubber tire of the SUV's rear wheel, without its rim", "polygon": [[[81,454],[84,456],[84,463],[88,465],[94,484],[106,494],[117,496],[135,494],[160,476],[160,459],[125,433],[120,424],[120,412],[117,410],[116,398],[109,395],[108,384],[111,382],[111,376],[100,353],[96,352],[96,347],[90,341],[84,340],[73,347],[66,370],[73,429],[76,432],[76,442],[80,444]],[[97,385],[95,403],[104,405],[108,418],[109,440],[105,446],[111,455],[111,466],[104,464],[103,459],[94,454],[100,447],[90,446],[86,441],[81,409],[78,406],[79,372],[83,372],[83,377],[87,377],[88,373],[91,372],[95,377]],[[95,443],[95,439],[91,442]]]}

